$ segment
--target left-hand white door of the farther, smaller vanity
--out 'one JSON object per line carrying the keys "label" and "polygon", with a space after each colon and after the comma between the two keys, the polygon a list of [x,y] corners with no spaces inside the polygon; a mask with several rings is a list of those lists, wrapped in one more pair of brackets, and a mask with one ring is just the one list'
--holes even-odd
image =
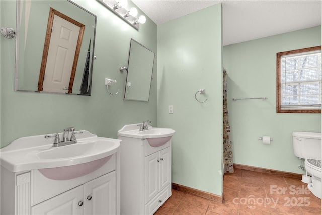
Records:
{"label": "left-hand white door of the farther, smaller vanity", "polygon": [[158,152],[145,157],[145,204],[159,192]]}

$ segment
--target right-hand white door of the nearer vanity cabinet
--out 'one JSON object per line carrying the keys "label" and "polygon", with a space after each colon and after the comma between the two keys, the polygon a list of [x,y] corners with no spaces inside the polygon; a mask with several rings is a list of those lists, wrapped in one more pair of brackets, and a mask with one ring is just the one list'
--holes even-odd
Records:
{"label": "right-hand white door of the nearer vanity cabinet", "polygon": [[116,214],[116,172],[84,184],[84,214]]}

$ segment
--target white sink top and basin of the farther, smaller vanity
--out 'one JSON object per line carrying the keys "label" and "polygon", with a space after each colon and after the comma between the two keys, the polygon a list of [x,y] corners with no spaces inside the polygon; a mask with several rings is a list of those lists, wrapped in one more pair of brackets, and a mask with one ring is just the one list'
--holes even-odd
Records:
{"label": "white sink top and basin of the farther, smaller vanity", "polygon": [[154,128],[148,126],[148,130],[139,130],[140,124],[125,125],[118,131],[118,136],[125,136],[136,139],[147,139],[152,147],[159,147],[168,142],[176,132],[171,128]]}

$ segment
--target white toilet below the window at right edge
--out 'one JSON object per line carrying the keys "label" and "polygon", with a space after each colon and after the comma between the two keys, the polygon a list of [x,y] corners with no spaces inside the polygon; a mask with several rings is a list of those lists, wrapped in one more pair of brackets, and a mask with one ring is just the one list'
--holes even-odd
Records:
{"label": "white toilet below the window at right edge", "polygon": [[318,198],[322,197],[321,186],[321,133],[293,132],[293,149],[295,156],[305,159],[306,175],[302,181],[308,183],[308,189]]}

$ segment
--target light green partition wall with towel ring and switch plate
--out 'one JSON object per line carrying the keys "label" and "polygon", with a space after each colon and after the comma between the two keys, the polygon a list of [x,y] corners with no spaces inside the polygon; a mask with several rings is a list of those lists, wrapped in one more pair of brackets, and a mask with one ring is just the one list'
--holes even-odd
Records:
{"label": "light green partition wall with towel ring and switch plate", "polygon": [[[218,4],[158,26],[158,127],[176,130],[172,182],[216,195],[222,193],[221,14]],[[195,100],[200,88],[205,103]]]}

